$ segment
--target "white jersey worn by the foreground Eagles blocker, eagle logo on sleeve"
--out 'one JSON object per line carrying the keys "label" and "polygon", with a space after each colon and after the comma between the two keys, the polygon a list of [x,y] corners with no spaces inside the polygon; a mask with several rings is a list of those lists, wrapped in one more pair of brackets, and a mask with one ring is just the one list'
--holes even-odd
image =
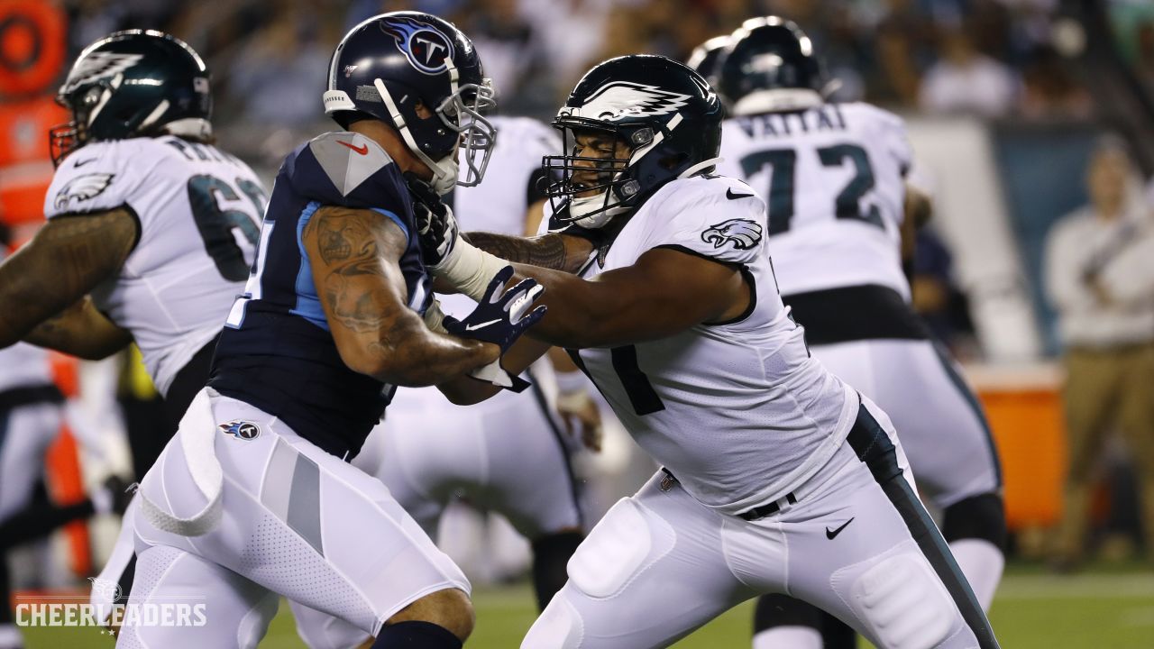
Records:
{"label": "white jersey worn by the foreground Eagles blocker, eagle logo on sleeve", "polygon": [[789,493],[830,458],[857,412],[856,393],[810,358],[781,304],[765,226],[765,203],[744,182],[674,180],[630,218],[605,267],[583,275],[632,266],[661,247],[743,269],[755,300],[742,316],[579,351],[637,443],[697,500],[727,513]]}

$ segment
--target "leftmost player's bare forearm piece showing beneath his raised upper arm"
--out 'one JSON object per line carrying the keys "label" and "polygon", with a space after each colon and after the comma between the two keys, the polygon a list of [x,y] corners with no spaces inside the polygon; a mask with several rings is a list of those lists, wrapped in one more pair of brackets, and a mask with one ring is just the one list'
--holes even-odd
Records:
{"label": "leftmost player's bare forearm piece showing beneath his raised upper arm", "polygon": [[85,297],[37,324],[24,336],[24,342],[99,360],[125,349],[133,342],[133,335],[108,320]]}

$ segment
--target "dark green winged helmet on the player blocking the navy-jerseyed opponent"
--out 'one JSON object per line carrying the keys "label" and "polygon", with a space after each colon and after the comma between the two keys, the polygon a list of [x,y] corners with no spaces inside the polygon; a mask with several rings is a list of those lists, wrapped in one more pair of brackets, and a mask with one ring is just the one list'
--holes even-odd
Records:
{"label": "dark green winged helmet on the player blocking the navy-jerseyed opponent", "polygon": [[[565,155],[542,165],[554,218],[600,227],[640,206],[665,184],[712,169],[721,142],[721,102],[689,67],[653,54],[619,57],[589,70],[553,126]],[[576,136],[601,133],[624,142],[628,157],[578,156]],[[587,179],[595,170],[595,181]]]}

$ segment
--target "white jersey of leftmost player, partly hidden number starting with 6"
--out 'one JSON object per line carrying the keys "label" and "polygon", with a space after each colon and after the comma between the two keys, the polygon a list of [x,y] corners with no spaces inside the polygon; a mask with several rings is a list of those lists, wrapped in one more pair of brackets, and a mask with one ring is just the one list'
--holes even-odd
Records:
{"label": "white jersey of leftmost player, partly hidden number starting with 6", "polygon": [[92,300],[132,331],[165,394],[243,292],[267,201],[253,170],[216,147],[137,137],[69,155],[52,179],[44,214],[84,218],[125,207],[136,216],[136,247]]}

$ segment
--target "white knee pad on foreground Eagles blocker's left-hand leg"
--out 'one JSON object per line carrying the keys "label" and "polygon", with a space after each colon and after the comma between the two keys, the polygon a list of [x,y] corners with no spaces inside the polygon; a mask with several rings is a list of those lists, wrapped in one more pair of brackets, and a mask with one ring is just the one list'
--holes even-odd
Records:
{"label": "white knee pad on foreground Eagles blocker's left-hand leg", "polygon": [[610,597],[675,540],[667,521],[631,499],[620,500],[569,559],[569,581],[590,597]]}

